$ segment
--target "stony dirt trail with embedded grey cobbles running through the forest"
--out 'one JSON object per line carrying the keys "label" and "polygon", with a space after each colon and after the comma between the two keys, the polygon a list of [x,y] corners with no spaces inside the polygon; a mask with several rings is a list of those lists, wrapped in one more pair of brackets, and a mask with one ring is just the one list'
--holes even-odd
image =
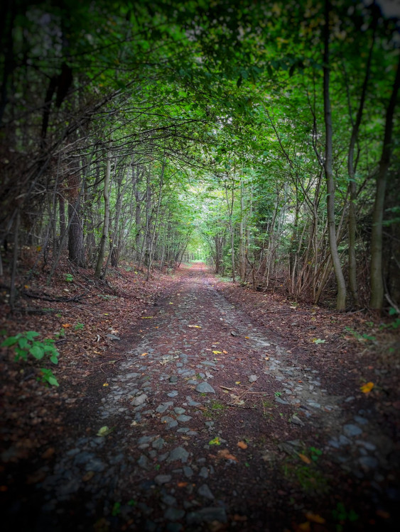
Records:
{"label": "stony dirt trail with embedded grey cobbles running through the forest", "polygon": [[377,511],[390,528],[393,443],[214,284],[193,266],[142,316],[68,414],[45,478],[11,505],[14,528],[367,530]]}

